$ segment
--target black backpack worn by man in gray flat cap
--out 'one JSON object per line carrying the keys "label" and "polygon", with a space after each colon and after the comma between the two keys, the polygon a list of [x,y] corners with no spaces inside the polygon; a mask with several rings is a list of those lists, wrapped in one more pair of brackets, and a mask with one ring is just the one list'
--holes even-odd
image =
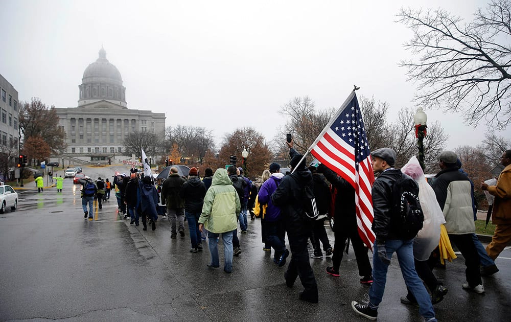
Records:
{"label": "black backpack worn by man in gray flat cap", "polygon": [[419,186],[406,174],[394,182],[390,214],[392,230],[400,239],[412,239],[422,229],[424,213],[419,201]]}

